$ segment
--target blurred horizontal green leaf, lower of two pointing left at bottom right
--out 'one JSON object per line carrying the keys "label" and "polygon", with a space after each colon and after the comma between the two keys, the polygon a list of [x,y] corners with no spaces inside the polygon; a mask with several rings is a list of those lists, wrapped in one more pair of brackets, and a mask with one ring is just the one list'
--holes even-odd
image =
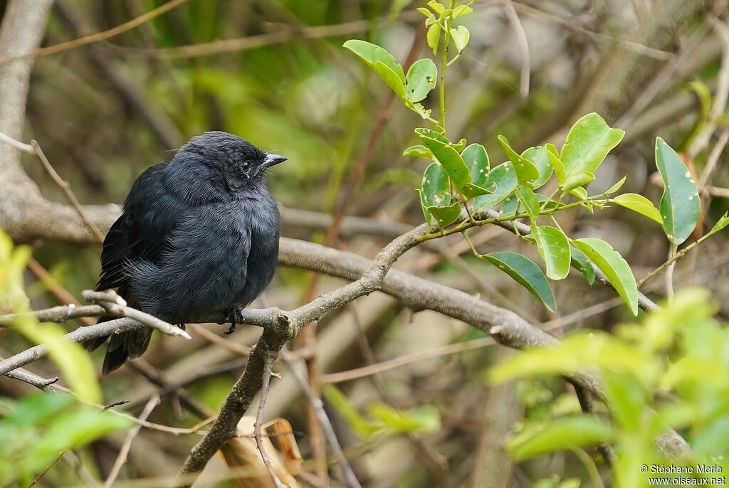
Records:
{"label": "blurred horizontal green leaf, lower of two pointing left at bottom right", "polygon": [[596,446],[609,440],[609,425],[593,415],[562,417],[545,424],[537,433],[522,438],[518,436],[507,449],[516,460],[563,451],[574,447]]}

